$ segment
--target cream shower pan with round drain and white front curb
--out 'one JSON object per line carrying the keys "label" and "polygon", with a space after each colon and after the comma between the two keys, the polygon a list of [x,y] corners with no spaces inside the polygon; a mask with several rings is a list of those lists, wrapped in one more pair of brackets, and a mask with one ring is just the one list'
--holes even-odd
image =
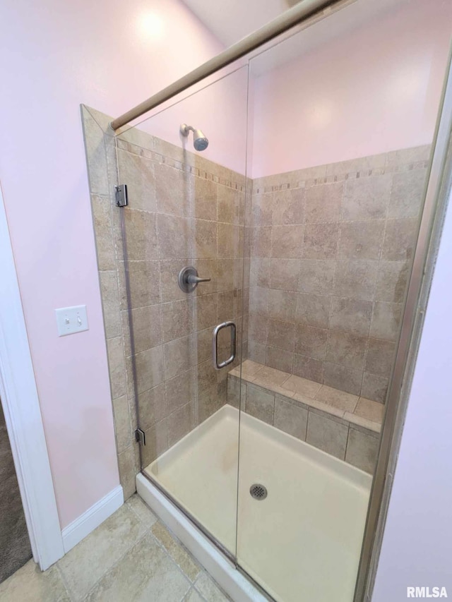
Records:
{"label": "cream shower pan with round drain and white front curb", "polygon": [[[265,496],[250,495],[256,484]],[[237,565],[276,601],[351,602],[370,488],[364,471],[230,405],[137,476],[141,498],[237,602],[266,598],[194,522],[230,555],[237,545]]]}

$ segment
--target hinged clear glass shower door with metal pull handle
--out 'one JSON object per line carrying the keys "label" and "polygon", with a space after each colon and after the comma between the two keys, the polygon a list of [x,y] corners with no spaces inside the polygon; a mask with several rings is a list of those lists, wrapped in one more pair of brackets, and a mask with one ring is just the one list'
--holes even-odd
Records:
{"label": "hinged clear glass shower door with metal pull handle", "polygon": [[[246,307],[247,84],[242,66],[117,138],[129,189],[122,318],[141,466],[232,555],[240,379],[228,391],[227,374],[241,362]],[[193,129],[181,133],[182,124]],[[216,370],[213,331],[227,321],[236,334],[232,325],[218,332],[217,361],[232,343],[236,356]]]}

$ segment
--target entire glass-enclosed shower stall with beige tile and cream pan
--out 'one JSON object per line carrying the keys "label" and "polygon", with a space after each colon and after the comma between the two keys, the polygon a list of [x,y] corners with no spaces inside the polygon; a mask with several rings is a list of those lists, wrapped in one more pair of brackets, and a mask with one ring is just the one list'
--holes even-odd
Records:
{"label": "entire glass-enclosed shower stall with beige tile and cream pan", "polygon": [[448,64],[423,4],[336,3],[117,131],[83,107],[121,483],[237,600],[362,599]]}

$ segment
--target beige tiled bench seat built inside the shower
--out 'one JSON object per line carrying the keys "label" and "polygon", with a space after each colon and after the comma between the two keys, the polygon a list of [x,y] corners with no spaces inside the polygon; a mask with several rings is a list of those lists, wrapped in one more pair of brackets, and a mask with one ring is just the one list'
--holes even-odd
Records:
{"label": "beige tiled bench seat built inside the shower", "polygon": [[240,403],[247,414],[374,471],[383,404],[251,360],[228,373],[227,403]]}

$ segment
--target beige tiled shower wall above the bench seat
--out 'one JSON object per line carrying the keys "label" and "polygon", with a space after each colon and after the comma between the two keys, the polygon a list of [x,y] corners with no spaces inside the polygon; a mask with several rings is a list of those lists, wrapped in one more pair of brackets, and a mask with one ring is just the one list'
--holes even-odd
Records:
{"label": "beige tiled shower wall above the bench seat", "polygon": [[384,402],[429,148],[254,180],[250,359]]}

